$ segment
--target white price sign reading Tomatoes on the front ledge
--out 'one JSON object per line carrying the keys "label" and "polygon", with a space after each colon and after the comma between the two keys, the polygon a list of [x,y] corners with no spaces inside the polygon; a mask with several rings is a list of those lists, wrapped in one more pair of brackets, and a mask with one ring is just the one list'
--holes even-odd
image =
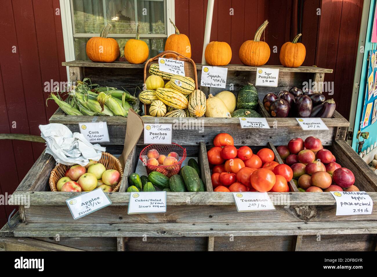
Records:
{"label": "white price sign reading Tomatoes on the front ledge", "polygon": [[268,211],[275,210],[267,192],[234,192],[237,211]]}

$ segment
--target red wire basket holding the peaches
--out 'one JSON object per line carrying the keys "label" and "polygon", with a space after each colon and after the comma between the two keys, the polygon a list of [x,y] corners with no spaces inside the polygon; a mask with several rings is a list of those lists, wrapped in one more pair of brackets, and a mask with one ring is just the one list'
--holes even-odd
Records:
{"label": "red wire basket holding the peaches", "polygon": [[[147,154],[149,150],[155,149],[157,150],[159,155],[165,155],[166,157],[169,155],[170,152],[175,152],[178,154],[177,162],[172,165],[150,165],[147,164]],[[156,157],[157,153],[155,153]],[[179,173],[179,170],[181,170],[182,162],[186,158],[186,148],[183,148],[181,145],[172,143],[170,145],[168,144],[150,144],[147,147],[145,147],[140,152],[140,161],[143,162],[143,164],[146,166],[147,173],[151,173],[152,171],[158,171],[162,174],[164,174],[167,177],[171,177],[175,174]],[[158,159],[155,158],[155,159]],[[161,161],[161,159],[160,159]]]}

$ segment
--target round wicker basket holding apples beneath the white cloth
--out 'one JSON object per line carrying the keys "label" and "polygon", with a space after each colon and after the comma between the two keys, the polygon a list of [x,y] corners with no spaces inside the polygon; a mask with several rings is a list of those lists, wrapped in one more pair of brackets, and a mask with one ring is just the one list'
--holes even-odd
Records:
{"label": "round wicker basket holding apples beneath the white cloth", "polygon": [[[98,162],[103,164],[106,170],[115,169],[119,171],[120,173],[119,183],[116,185],[110,186],[113,188],[112,192],[118,191],[120,188],[120,183],[122,182],[122,178],[123,178],[123,167],[120,161],[117,158],[115,158],[113,155],[106,152],[102,152],[101,159]],[[59,181],[60,178],[64,177],[67,169],[69,169],[70,167],[71,167],[70,165],[64,165],[64,164],[60,164],[54,167],[54,169],[51,171],[50,178],[49,178],[49,185],[50,185],[51,191],[58,191],[56,189],[56,183]]]}

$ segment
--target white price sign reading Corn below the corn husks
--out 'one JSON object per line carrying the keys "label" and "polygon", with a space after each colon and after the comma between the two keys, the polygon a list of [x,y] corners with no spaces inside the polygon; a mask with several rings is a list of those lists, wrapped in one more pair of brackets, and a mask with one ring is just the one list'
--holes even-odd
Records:
{"label": "white price sign reading Corn below the corn husks", "polygon": [[86,122],[78,124],[80,133],[91,143],[109,142],[109,131],[106,122]]}

